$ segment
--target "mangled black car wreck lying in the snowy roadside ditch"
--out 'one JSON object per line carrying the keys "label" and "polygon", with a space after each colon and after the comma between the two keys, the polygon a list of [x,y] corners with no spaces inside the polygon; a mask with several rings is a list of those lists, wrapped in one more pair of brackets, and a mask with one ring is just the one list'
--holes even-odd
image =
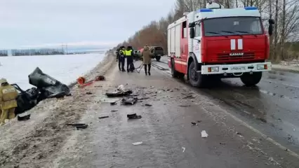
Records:
{"label": "mangled black car wreck lying in the snowy roadside ditch", "polygon": [[60,83],[60,81],[55,78],[43,73],[39,67],[30,73],[28,78],[29,83],[36,87],[32,87],[25,91],[18,85],[13,84],[15,89],[19,92],[17,97],[18,107],[15,109],[15,115],[32,109],[44,99],[70,95],[70,89],[67,85]]}

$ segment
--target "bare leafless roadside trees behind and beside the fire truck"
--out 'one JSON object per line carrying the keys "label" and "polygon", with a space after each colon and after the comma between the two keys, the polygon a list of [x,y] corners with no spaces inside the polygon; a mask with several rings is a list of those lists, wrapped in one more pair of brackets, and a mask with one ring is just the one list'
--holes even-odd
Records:
{"label": "bare leafless roadside trees behind and beside the fire truck", "polygon": [[[117,45],[131,45],[142,48],[147,45],[159,45],[167,51],[167,27],[182,18],[183,13],[206,8],[208,0],[176,0],[175,8],[159,21],[152,21],[133,36]],[[263,24],[275,20],[274,34],[270,36],[270,58],[274,61],[299,57],[299,0],[215,0],[225,8],[258,7],[262,13]],[[267,30],[267,28],[266,28]]]}

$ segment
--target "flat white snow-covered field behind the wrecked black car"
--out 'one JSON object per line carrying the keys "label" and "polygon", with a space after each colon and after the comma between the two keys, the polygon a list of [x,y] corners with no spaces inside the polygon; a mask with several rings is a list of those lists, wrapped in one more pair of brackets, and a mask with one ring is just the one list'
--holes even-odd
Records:
{"label": "flat white snow-covered field behind the wrecked black car", "polygon": [[0,78],[6,78],[9,83],[17,83],[23,90],[32,85],[28,82],[28,75],[38,66],[41,71],[69,84],[88,73],[102,61],[105,54],[86,55],[45,55],[0,57]]}

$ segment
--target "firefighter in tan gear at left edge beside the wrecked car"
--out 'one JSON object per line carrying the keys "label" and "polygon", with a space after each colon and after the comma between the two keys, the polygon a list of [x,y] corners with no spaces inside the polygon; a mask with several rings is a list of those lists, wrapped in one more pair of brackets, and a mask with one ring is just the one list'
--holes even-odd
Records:
{"label": "firefighter in tan gear at left edge beside the wrecked car", "polygon": [[0,108],[1,108],[1,125],[4,125],[6,119],[15,118],[15,108],[18,106],[15,100],[18,92],[12,85],[9,85],[5,78],[0,80]]}

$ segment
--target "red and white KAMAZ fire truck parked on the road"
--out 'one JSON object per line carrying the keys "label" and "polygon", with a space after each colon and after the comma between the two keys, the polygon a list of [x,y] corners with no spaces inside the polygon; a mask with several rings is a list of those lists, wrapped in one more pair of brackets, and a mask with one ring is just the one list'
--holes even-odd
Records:
{"label": "red and white KAMAZ fire truck parked on the road", "polygon": [[[217,7],[219,6],[219,8]],[[274,20],[269,20],[272,35]],[[185,75],[204,87],[211,79],[241,78],[247,86],[271,71],[269,36],[255,7],[223,8],[208,3],[168,25],[168,66],[174,78]]]}

